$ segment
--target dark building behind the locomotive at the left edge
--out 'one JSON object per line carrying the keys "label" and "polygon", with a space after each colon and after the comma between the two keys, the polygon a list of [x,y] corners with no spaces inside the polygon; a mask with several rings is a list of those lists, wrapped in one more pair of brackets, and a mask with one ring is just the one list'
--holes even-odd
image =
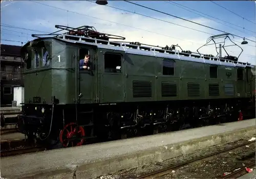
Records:
{"label": "dark building behind the locomotive at the left edge", "polygon": [[24,85],[22,46],[1,44],[1,106],[9,106],[13,100],[13,87]]}

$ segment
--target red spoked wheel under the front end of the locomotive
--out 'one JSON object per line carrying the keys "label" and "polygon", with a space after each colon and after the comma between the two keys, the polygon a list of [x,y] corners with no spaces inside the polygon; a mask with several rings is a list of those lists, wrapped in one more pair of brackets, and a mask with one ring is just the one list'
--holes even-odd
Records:
{"label": "red spoked wheel under the front end of the locomotive", "polygon": [[59,134],[59,141],[64,147],[80,146],[83,144],[84,139],[70,140],[71,138],[81,138],[86,136],[82,126],[77,126],[76,123],[71,122],[67,124]]}

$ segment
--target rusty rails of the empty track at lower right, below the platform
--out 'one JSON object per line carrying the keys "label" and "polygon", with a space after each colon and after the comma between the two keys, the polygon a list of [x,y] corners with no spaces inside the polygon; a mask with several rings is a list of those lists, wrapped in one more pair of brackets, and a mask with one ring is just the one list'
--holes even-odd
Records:
{"label": "rusty rails of the empty track at lower right, below the platform", "polygon": [[[218,155],[218,154],[221,154],[221,153],[224,153],[224,152],[227,152],[227,151],[230,151],[230,150],[233,150],[233,149],[237,149],[237,148],[240,148],[240,147],[243,147],[243,146],[246,146],[246,145],[249,145],[249,144],[253,144],[255,143],[255,141],[250,141],[250,142],[245,142],[243,144],[240,144],[240,145],[237,145],[237,146],[233,146],[233,147],[230,147],[230,148],[227,148],[225,150],[221,150],[221,151],[217,151],[217,152],[214,152],[213,154],[209,154],[209,155],[206,155],[206,156],[203,156],[203,157],[200,157],[200,158],[197,158],[197,159],[193,159],[193,160],[190,160],[188,162],[184,162],[184,163],[181,163],[181,164],[178,164],[178,165],[175,165],[175,166],[170,166],[170,167],[167,167],[167,168],[164,168],[164,169],[161,169],[161,170],[158,170],[158,171],[153,171],[151,173],[147,173],[147,174],[144,174],[144,175],[141,175],[137,178],[156,178],[156,177],[161,177],[163,175],[166,175],[166,174],[169,174],[169,173],[172,173],[173,170],[175,169],[178,169],[180,167],[183,167],[187,164],[191,164],[191,163],[194,163],[194,162],[198,162],[200,160],[203,160],[203,159],[207,159],[207,158],[210,158],[212,156],[215,156],[215,155]],[[253,163],[254,166],[255,166],[255,163]],[[251,167],[253,166],[252,164],[250,164],[249,166],[247,167]],[[243,171],[242,171],[243,170]],[[241,169],[241,170],[237,170],[237,171],[234,171],[233,173],[230,173],[229,175],[226,175],[224,178],[234,178],[234,176],[238,176],[239,173],[241,175],[241,173],[243,172],[246,172],[245,171],[245,168]]]}

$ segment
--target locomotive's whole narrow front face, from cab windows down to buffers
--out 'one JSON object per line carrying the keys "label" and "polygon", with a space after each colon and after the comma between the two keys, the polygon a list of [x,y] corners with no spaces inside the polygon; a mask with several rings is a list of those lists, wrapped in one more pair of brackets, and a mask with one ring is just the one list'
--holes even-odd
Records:
{"label": "locomotive's whole narrow front face, from cab windows down to buffers", "polygon": [[25,62],[26,90],[18,129],[28,136],[34,136],[38,134],[39,129],[44,129],[45,119],[52,116],[51,39],[41,38],[30,41],[22,47],[20,53]]}

